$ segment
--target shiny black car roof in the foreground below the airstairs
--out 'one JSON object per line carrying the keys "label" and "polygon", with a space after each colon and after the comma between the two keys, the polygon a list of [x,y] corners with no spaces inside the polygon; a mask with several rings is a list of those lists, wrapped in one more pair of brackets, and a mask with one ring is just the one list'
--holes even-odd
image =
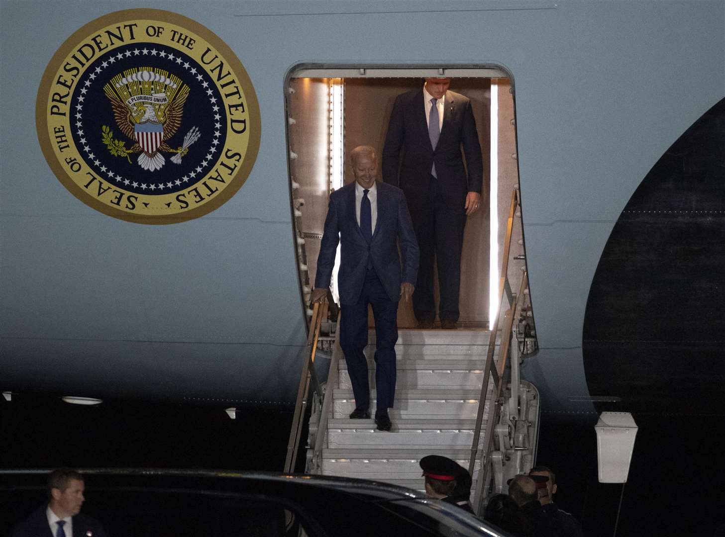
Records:
{"label": "shiny black car roof in the foreground below the airstairs", "polygon": [[[0,471],[0,535],[46,501],[46,473]],[[83,513],[113,537],[508,536],[451,504],[367,480],[204,470],[83,474]]]}

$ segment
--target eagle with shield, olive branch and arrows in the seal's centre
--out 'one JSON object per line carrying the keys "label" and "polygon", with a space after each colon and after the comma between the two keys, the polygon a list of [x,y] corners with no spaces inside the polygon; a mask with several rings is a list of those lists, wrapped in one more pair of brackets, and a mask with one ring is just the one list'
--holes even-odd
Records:
{"label": "eagle with shield, olive branch and arrows in the seal's centre", "polygon": [[172,149],[168,143],[181,126],[189,93],[180,78],[165,70],[137,68],[116,75],[103,89],[118,128],[133,142],[126,149],[125,142],[114,140],[110,129],[104,126],[104,143],[111,154],[130,161],[129,154],[140,152],[136,162],[149,172],[164,166],[162,151],[175,153],[171,162],[181,164],[181,157],[200,133],[196,127],[191,128],[178,149]]}

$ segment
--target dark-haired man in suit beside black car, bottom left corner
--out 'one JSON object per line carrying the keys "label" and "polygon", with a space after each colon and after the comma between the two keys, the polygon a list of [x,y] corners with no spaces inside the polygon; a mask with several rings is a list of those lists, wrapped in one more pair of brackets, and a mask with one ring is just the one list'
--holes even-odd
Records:
{"label": "dark-haired man in suit beside black car, bottom left corner", "polygon": [[11,537],[106,537],[96,519],[80,514],[85,488],[75,470],[54,470],[48,477],[48,503],[17,523]]}

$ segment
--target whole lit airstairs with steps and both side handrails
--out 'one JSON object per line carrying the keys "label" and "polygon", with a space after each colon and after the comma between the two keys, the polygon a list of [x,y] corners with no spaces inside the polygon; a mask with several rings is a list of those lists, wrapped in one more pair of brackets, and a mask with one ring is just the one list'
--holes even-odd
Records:
{"label": "whole lit airstairs with steps and both side handrails", "polygon": [[[521,270],[517,294],[511,291],[508,278],[516,207],[518,191],[512,196],[501,270],[505,275],[500,282],[501,322],[495,320],[491,331],[399,330],[395,406],[389,410],[393,428],[389,432],[377,430],[372,419],[349,419],[355,399],[337,341],[338,323],[328,321],[327,304],[314,305],[307,342],[310,358],[299,385],[286,471],[294,468],[307,393],[312,387],[306,473],[364,478],[423,491],[418,462],[426,455],[439,454],[471,472],[473,509],[481,512],[486,496],[506,491],[508,478],[528,472],[536,459],[539,397],[531,383],[521,380],[518,370],[537,346],[526,271]],[[331,351],[324,384],[315,372],[318,348]],[[374,351],[375,332],[370,330],[365,353],[371,415],[376,410]]]}

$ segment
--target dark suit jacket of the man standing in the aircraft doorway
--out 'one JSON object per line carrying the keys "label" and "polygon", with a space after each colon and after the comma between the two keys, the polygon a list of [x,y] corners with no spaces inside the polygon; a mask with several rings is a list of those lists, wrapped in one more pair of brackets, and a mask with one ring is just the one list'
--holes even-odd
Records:
{"label": "dark suit jacket of the man standing in the aircraft doorway", "polygon": [[444,106],[441,136],[434,150],[428,137],[423,88],[402,93],[393,105],[383,148],[383,180],[402,188],[412,211],[428,199],[434,162],[442,195],[449,207],[460,207],[463,211],[466,193],[481,193],[484,165],[471,101],[460,93],[447,91]]}

